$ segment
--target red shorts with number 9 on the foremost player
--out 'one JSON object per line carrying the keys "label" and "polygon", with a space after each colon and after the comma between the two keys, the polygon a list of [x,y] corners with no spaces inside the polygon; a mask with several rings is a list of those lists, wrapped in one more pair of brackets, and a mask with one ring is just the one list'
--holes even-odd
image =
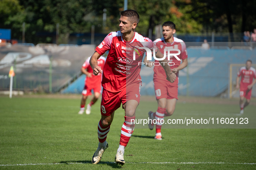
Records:
{"label": "red shorts with number 9 on the foremost player", "polygon": [[103,88],[102,99],[100,104],[100,113],[102,116],[110,116],[117,110],[121,103],[125,104],[126,101],[136,100],[139,103],[140,99],[140,83],[128,85],[122,91],[111,92]]}

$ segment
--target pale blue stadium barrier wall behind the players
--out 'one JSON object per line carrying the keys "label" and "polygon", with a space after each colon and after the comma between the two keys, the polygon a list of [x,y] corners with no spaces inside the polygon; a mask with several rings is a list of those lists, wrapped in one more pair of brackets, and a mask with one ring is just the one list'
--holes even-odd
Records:
{"label": "pale blue stadium barrier wall behind the players", "polygon": [[[228,88],[229,66],[256,63],[256,50],[198,50],[188,49],[188,67],[179,72],[179,95],[214,97]],[[155,95],[153,68],[142,66],[141,95]],[[69,85],[62,93],[81,93],[84,87],[84,75]]]}

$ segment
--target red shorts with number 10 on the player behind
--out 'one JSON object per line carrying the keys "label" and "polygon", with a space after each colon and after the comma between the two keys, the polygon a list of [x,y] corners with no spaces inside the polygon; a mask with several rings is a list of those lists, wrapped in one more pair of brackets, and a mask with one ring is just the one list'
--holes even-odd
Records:
{"label": "red shorts with number 10 on the player behind", "polygon": [[160,98],[178,99],[178,81],[168,82],[161,79],[154,79],[154,87],[156,93],[156,100]]}

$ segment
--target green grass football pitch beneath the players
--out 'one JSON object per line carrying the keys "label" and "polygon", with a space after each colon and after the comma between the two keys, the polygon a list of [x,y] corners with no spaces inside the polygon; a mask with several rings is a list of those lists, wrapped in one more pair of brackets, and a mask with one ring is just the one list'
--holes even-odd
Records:
{"label": "green grass football pitch beneath the players", "polygon": [[[100,101],[90,115],[78,115],[80,99],[0,96],[0,169],[113,169],[124,111],[120,108],[107,136],[100,164],[91,164],[98,145]],[[148,101],[157,108],[156,101]],[[143,105],[143,101],[141,101]],[[145,103],[144,103],[145,105]],[[236,112],[234,104],[177,103],[176,115]],[[255,114],[256,106],[247,107]],[[145,111],[147,116],[148,110]],[[245,112],[245,114],[246,114]],[[123,169],[256,169],[256,129],[135,129],[125,149]],[[238,164],[239,163],[239,164]],[[253,163],[253,164],[248,164]],[[17,165],[19,164],[19,165]]]}

